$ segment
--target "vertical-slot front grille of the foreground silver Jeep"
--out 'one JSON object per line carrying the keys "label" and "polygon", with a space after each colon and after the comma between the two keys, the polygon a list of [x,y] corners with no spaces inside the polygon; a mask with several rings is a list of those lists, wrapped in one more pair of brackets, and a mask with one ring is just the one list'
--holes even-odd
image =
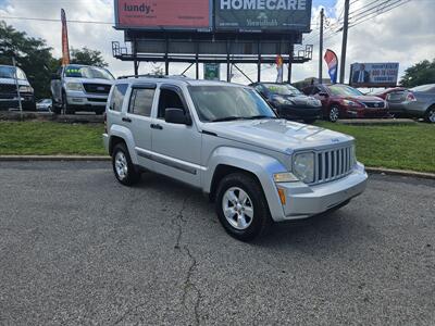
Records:
{"label": "vertical-slot front grille of the foreground silver Jeep", "polygon": [[315,152],[315,173],[313,184],[322,184],[339,179],[349,174],[351,168],[351,146]]}

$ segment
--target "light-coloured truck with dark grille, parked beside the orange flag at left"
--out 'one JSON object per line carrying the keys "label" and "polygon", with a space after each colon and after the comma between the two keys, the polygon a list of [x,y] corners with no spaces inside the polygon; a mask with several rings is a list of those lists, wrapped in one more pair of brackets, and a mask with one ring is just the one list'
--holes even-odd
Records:
{"label": "light-coloured truck with dark grille, parked beside the orange flag at left", "polygon": [[110,88],[112,74],[102,67],[69,64],[52,76],[52,111],[57,114],[74,114],[77,111],[94,111],[102,114]]}

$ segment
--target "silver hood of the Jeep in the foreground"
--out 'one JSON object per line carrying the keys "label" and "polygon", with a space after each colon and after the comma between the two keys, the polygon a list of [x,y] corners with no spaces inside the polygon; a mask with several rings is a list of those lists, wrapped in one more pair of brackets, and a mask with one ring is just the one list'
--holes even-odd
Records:
{"label": "silver hood of the Jeep in the foreground", "polygon": [[207,123],[204,130],[219,137],[290,154],[298,149],[312,149],[353,140],[352,137],[286,120],[256,120]]}

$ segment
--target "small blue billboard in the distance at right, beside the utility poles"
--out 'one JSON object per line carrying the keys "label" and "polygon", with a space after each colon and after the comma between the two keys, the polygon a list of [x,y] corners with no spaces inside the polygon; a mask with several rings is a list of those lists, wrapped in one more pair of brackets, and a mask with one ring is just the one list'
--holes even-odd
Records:
{"label": "small blue billboard in the distance at right, beside the utility poles", "polygon": [[352,63],[350,82],[355,87],[393,87],[397,85],[398,62]]}

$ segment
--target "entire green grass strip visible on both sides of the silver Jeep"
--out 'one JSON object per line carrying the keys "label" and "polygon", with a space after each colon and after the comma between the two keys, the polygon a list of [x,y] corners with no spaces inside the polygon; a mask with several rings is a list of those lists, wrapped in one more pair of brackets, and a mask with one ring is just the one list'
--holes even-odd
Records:
{"label": "entire green grass strip visible on both sides of the silver Jeep", "polygon": [[[435,173],[433,125],[316,125],[353,136],[358,160],[366,166]],[[102,125],[0,122],[0,155],[105,154],[102,133]]]}

